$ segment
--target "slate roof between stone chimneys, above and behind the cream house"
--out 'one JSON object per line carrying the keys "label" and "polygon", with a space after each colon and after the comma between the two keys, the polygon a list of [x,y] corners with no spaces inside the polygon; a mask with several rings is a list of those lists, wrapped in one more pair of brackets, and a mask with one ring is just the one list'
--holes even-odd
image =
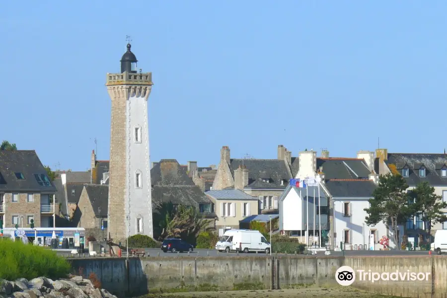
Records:
{"label": "slate roof between stone chimneys, above and behind the cream house", "polygon": [[[246,188],[286,188],[287,182],[281,185],[281,180],[289,181],[292,178],[288,171],[286,161],[279,159],[230,159],[231,175],[239,165],[248,169],[248,185]],[[262,183],[268,178],[268,183]]]}

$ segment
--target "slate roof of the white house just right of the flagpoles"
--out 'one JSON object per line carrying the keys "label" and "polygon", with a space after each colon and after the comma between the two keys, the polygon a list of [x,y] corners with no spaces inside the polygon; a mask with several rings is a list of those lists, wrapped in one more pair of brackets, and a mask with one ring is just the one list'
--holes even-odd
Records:
{"label": "slate roof of the white house just right of the flagpoles", "polygon": [[345,198],[370,198],[377,187],[372,180],[362,179],[334,179],[325,186],[331,196]]}

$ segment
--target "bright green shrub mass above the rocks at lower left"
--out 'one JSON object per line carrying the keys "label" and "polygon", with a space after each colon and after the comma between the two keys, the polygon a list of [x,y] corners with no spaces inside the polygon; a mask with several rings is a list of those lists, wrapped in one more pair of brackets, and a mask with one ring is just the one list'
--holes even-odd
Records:
{"label": "bright green shrub mass above the rocks at lower left", "polygon": [[0,279],[9,281],[40,276],[65,278],[71,270],[70,263],[56,252],[9,239],[0,240],[0,260]]}

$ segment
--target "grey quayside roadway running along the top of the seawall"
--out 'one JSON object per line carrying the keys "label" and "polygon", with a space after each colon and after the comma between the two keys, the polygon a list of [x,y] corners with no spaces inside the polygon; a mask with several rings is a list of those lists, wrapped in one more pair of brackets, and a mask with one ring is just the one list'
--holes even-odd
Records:
{"label": "grey quayside roadway running along the top of the seawall", "polygon": [[[191,256],[191,257],[206,257],[206,256],[210,256],[210,257],[217,257],[217,256],[223,256],[223,257],[236,257],[236,256],[249,256],[249,257],[255,257],[255,256],[265,256],[265,253],[236,253],[236,252],[218,252],[215,249],[195,249],[193,252],[188,253],[188,252],[183,252],[183,253],[172,253],[172,252],[163,252],[161,251],[161,249],[159,248],[146,248],[146,256],[150,257],[170,257],[170,258],[174,258],[174,257],[186,257],[186,256]],[[418,255],[428,255],[429,252],[428,251],[421,251],[421,250],[417,250],[417,251],[407,251],[407,250],[348,250],[345,251],[344,255],[345,256],[418,256]],[[433,254],[433,252],[432,252]],[[65,257],[72,257],[72,254],[69,254],[68,252],[58,252],[58,255],[60,256],[65,256]],[[126,253],[124,252],[123,255],[126,255]],[[276,254],[274,254],[276,255]],[[278,256],[286,256],[286,254],[278,254]],[[314,255],[315,256],[315,255]],[[325,256],[324,251],[318,251],[316,256]],[[342,251],[331,251],[330,256],[343,256],[343,252]],[[77,257],[77,255],[76,255]],[[80,254],[79,257],[89,257],[88,253],[85,254]]]}

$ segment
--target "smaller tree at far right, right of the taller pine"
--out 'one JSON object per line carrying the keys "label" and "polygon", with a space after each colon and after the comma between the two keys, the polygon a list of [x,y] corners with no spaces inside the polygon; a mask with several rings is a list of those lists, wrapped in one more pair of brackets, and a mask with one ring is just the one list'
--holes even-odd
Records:
{"label": "smaller tree at far right, right of the taller pine", "polygon": [[413,215],[418,216],[426,223],[426,230],[431,232],[432,224],[444,223],[447,217],[441,209],[447,208],[447,203],[443,202],[442,196],[435,194],[435,188],[427,181],[421,182],[411,192],[414,204],[412,204]]}

